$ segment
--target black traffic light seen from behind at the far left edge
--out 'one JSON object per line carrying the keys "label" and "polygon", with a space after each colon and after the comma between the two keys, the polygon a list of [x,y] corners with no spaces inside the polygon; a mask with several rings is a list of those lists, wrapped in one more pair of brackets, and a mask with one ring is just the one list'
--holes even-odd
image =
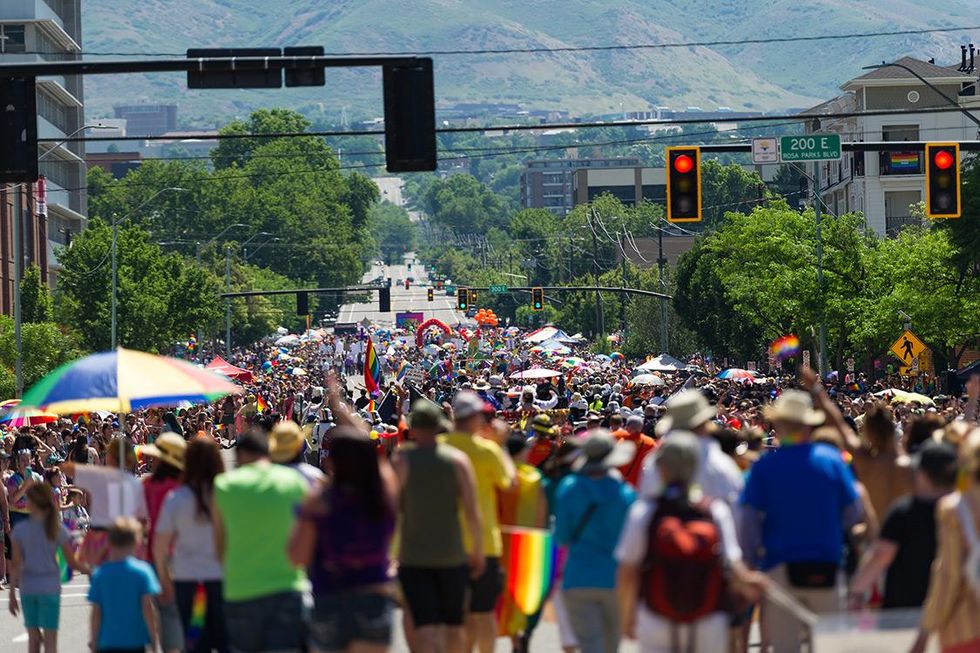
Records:
{"label": "black traffic light seen from behind at the far left edge", "polygon": [[37,181],[35,78],[0,79],[0,182]]}

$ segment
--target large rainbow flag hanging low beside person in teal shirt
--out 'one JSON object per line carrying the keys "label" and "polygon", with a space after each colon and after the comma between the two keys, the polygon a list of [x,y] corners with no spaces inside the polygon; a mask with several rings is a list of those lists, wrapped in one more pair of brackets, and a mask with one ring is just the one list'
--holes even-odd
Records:
{"label": "large rainbow flag hanging low beside person in teal shirt", "polygon": [[507,594],[517,608],[526,615],[538,611],[554,577],[556,549],[551,532],[541,528],[509,527],[504,531],[508,538]]}

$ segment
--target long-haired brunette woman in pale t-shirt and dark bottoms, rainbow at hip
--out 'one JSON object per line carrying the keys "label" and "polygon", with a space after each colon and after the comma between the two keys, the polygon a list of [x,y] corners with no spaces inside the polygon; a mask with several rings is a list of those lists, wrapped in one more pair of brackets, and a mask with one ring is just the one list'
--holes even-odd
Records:
{"label": "long-haired brunette woman in pale t-shirt and dark bottoms, rainbow at hip", "polygon": [[176,601],[188,653],[228,650],[221,603],[224,573],[211,522],[214,479],[223,471],[217,442],[191,439],[184,452],[181,485],[166,497],[156,522],[152,546],[161,602]]}

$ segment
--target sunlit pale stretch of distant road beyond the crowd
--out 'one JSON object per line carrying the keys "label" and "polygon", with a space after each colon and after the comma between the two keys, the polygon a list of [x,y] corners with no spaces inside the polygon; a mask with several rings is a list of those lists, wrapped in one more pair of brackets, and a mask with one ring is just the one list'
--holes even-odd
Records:
{"label": "sunlit pale stretch of distant road beyond the crowd", "polygon": [[[360,322],[367,318],[375,324],[394,326],[395,313],[412,311],[423,313],[425,319],[431,317],[438,318],[449,324],[455,325],[462,318],[456,311],[456,298],[446,295],[444,290],[435,290],[433,301],[428,301],[426,271],[421,263],[416,262],[414,254],[406,255],[405,262],[399,265],[380,266],[375,264],[364,275],[363,281],[368,283],[379,276],[391,278],[391,312],[381,313],[378,311],[377,293],[371,294],[371,299],[366,304],[345,304],[341,306],[337,317],[338,322]],[[411,263],[412,269],[408,269]],[[405,290],[405,278],[414,277],[417,282],[413,282],[408,290]]]}

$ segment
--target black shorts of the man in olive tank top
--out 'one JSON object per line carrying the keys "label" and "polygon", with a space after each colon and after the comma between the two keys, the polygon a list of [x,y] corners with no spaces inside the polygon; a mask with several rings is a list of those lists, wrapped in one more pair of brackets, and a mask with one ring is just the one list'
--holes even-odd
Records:
{"label": "black shorts of the man in olive tank top", "polygon": [[466,616],[466,586],[470,569],[459,567],[405,567],[398,570],[405,603],[416,628],[462,626]]}

